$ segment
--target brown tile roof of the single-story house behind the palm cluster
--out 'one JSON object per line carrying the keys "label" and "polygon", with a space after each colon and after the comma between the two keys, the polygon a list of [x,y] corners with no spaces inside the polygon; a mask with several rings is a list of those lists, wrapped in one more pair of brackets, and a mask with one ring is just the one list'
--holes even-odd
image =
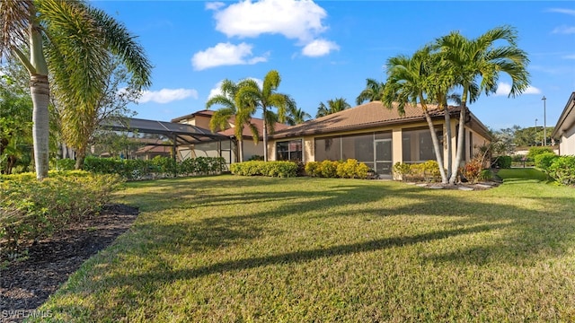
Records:
{"label": "brown tile roof of the single-story house behind the palm cluster", "polygon": [[[396,107],[396,105],[394,105],[394,107]],[[455,107],[450,107],[450,109],[451,108]],[[428,109],[429,114],[433,117],[443,116],[443,111],[439,111],[435,105],[428,105]],[[276,131],[273,137],[282,138],[294,135],[326,134],[345,130],[393,125],[409,121],[425,121],[420,105],[417,107],[406,106],[405,114],[402,116],[397,112],[397,109],[386,109],[381,101],[372,101]]]}

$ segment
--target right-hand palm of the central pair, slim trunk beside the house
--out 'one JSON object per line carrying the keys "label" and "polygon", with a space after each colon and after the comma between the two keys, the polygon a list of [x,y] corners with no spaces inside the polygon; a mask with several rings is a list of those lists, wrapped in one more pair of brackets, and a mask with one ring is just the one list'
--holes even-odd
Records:
{"label": "right-hand palm of the central pair, slim trunk beside the house", "polygon": [[[236,106],[250,107],[252,111],[261,109],[263,117],[263,160],[268,162],[268,135],[273,132],[276,121],[285,122],[288,109],[296,106],[296,101],[289,95],[276,92],[281,83],[279,72],[271,70],[263,78],[263,84],[253,79],[245,79],[239,83],[235,95]],[[271,109],[278,109],[274,113]]]}

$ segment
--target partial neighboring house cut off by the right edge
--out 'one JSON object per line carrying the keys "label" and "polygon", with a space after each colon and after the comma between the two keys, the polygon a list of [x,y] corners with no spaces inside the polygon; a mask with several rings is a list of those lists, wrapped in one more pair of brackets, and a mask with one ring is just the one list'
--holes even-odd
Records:
{"label": "partial neighboring house cut off by the right edge", "polygon": [[575,92],[565,104],[551,137],[559,141],[559,154],[575,155]]}

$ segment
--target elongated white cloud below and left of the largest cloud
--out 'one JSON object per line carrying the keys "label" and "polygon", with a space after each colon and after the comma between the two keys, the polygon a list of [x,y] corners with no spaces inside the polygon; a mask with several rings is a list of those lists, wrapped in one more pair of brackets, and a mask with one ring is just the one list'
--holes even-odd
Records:
{"label": "elongated white cloud below and left of the largest cloud", "polygon": [[197,71],[221,65],[253,65],[266,62],[268,56],[269,53],[262,57],[252,57],[252,45],[246,43],[234,45],[226,42],[194,54],[191,57],[191,65]]}

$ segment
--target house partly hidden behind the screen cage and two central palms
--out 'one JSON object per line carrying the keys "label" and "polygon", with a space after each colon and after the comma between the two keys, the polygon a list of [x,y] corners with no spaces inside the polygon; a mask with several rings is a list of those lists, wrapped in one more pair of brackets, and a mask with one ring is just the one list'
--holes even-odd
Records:
{"label": "house partly hidden behind the screen cage and two central palms", "polygon": [[[214,115],[214,111],[212,110],[201,110],[198,112],[191,113],[186,116],[182,116],[179,118],[173,118],[172,122],[187,124],[195,127],[201,127],[204,129],[209,129],[209,121],[211,120],[212,116]],[[252,118],[251,123],[258,129],[258,133],[260,134],[260,140],[258,144],[254,144],[252,131],[249,127],[243,127],[243,161],[248,161],[252,156],[262,156],[263,155],[263,143],[262,143],[262,134],[263,134],[263,120],[261,118]],[[234,135],[234,127],[235,127],[235,118],[229,118],[227,120],[227,125],[225,129],[215,129],[215,133],[218,135],[226,135],[227,137],[233,139],[233,142],[236,143],[236,138]],[[287,125],[276,123],[274,125],[275,131],[279,131],[281,129],[287,128]],[[222,143],[224,144],[224,143]],[[226,146],[220,147],[222,151],[231,151],[232,157],[231,161],[237,162],[236,156],[236,144],[233,147],[230,147],[229,143],[226,143]],[[193,147],[191,146],[178,146],[178,152],[181,155],[181,159],[186,158],[195,158],[199,156],[210,156],[215,157],[218,155],[218,147],[217,143],[205,143],[205,144],[194,144]],[[226,153],[222,153],[222,155],[227,155]]]}

